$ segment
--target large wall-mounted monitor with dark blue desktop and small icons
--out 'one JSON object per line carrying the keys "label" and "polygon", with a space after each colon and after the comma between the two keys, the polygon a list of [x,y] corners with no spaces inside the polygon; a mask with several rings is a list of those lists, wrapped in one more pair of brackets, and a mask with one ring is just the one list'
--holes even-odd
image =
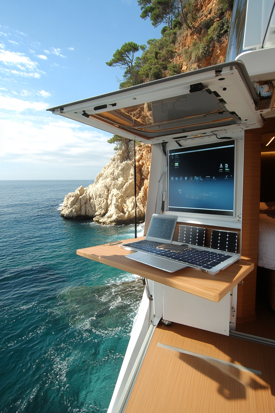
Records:
{"label": "large wall-mounted monitor with dark blue desktop and small icons", "polygon": [[233,216],[235,141],[169,150],[168,211]]}

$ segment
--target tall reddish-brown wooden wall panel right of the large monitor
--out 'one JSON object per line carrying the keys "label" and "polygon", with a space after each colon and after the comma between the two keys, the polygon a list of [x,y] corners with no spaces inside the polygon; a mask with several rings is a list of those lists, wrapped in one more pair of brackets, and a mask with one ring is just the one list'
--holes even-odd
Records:
{"label": "tall reddish-brown wooden wall panel right of the large monitor", "polygon": [[261,182],[261,135],[274,131],[275,119],[269,119],[259,129],[244,133],[244,178],[242,197],[241,254],[255,268],[238,286],[236,323],[255,319],[256,273],[258,261],[259,202]]}

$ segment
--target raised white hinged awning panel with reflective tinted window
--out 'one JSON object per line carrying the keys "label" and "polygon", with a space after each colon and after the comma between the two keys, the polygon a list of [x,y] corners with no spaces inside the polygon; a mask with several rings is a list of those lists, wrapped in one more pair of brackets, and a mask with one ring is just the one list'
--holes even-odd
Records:
{"label": "raised white hinged awning panel with reflective tinted window", "polygon": [[256,104],[244,64],[230,62],[47,110],[154,143],[213,129],[259,128]]}

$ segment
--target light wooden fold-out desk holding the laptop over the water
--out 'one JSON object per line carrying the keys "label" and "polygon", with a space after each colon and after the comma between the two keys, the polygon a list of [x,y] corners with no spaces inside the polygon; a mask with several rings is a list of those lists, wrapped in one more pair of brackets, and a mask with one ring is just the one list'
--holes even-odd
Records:
{"label": "light wooden fold-out desk holding the laptop over the water", "polygon": [[[142,239],[144,239],[144,237],[136,239],[131,238],[129,240],[123,240],[122,243],[126,244],[127,242],[134,242]],[[160,282],[169,287],[174,287],[178,290],[186,291],[215,302],[219,302],[225,297],[226,294],[254,268],[253,263],[239,260],[217,275],[209,275],[189,267],[175,271],[174,273],[168,273],[167,271],[162,271],[146,264],[127,259],[126,255],[131,254],[132,252],[120,248],[119,246],[121,244],[82,248],[78,249],[76,253],[85,258],[119,268],[120,270]]]}

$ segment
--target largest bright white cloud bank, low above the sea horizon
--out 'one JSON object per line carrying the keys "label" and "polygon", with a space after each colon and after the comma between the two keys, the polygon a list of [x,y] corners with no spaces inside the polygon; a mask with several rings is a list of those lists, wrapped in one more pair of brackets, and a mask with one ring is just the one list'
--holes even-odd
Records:
{"label": "largest bright white cloud bank, low above the sea horizon", "polygon": [[81,124],[50,119],[50,116],[40,116],[39,124],[33,123],[33,117],[20,114],[3,120],[1,160],[28,167],[30,164],[41,168],[48,165],[48,174],[53,167],[60,170],[65,166],[86,166],[87,171],[92,167],[94,176],[99,173],[114,155],[113,146],[107,143],[109,136],[94,128],[88,131],[87,126]]}

